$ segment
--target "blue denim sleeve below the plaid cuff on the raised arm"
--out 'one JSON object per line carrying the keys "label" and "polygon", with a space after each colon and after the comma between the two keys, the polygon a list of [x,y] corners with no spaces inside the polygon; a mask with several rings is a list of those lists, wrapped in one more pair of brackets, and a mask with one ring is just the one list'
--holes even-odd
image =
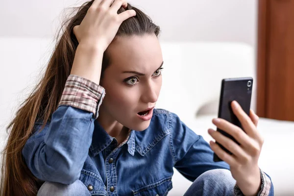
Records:
{"label": "blue denim sleeve below the plaid cuff on the raised arm", "polygon": [[79,178],[92,142],[94,122],[87,111],[60,106],[35,154],[34,165],[43,179],[64,184]]}

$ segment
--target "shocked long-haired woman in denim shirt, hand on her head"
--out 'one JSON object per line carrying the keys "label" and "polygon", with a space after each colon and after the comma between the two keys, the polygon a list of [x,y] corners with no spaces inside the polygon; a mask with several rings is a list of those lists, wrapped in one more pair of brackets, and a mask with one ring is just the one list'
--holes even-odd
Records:
{"label": "shocked long-haired woman in denim shirt, hand on her head", "polygon": [[[273,195],[258,157],[263,139],[233,102],[241,129],[213,123],[210,146],[173,113],[154,109],[162,81],[159,27],[125,0],[84,3],[35,91],[9,124],[5,196],[167,195],[173,167],[186,196]],[[213,162],[213,151],[225,162]]]}

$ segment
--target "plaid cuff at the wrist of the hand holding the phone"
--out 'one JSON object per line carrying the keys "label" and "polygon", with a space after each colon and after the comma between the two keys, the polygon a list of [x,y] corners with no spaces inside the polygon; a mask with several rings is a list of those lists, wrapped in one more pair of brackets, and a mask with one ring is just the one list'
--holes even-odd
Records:
{"label": "plaid cuff at the wrist of the hand holding the phone", "polygon": [[[260,175],[261,175],[261,189],[258,192],[257,196],[269,196],[270,194],[270,186],[271,186],[271,180],[267,176],[267,174],[263,171],[260,170]],[[237,183],[234,187],[234,194],[235,196],[244,196],[240,188],[238,187]]]}

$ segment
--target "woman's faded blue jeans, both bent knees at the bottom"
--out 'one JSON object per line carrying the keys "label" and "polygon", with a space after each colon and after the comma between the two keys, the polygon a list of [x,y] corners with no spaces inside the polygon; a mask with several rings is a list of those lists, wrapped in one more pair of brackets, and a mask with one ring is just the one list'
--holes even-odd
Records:
{"label": "woman's faded blue jeans, both bent knees at the bottom", "polygon": [[[234,196],[235,183],[229,170],[210,170],[202,173],[184,196]],[[37,196],[91,196],[91,194],[80,180],[76,180],[70,185],[45,182]]]}

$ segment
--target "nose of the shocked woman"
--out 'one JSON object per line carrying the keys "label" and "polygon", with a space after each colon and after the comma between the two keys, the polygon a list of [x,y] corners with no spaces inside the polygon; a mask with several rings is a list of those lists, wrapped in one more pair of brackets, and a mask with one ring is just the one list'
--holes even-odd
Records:
{"label": "nose of the shocked woman", "polygon": [[144,91],[142,93],[142,101],[146,103],[155,103],[158,99],[158,87],[159,84],[157,84],[154,81],[148,81],[144,87]]}

